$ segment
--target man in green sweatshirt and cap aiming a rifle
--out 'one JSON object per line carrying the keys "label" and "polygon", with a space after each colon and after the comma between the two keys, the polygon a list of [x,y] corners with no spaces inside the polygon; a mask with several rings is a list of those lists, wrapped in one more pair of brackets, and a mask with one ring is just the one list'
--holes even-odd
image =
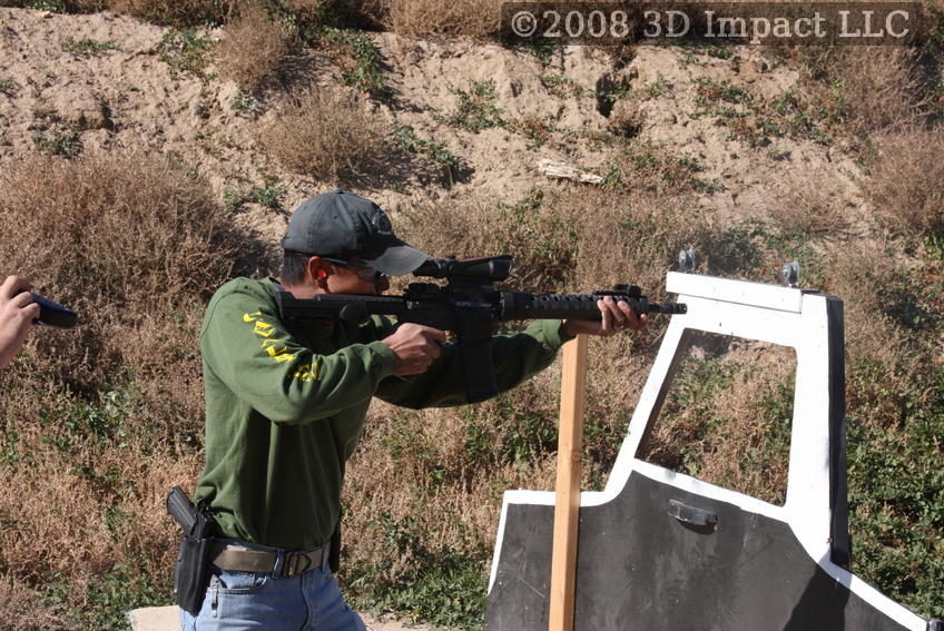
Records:
{"label": "man in green sweatshirt and cap aiming a rifle", "polygon": [[[387,275],[427,256],[400,240],[372,201],[335,190],[295,211],[279,280],[236,278],[207,307],[200,347],[206,387],[206,467],[196,496],[220,538],[209,586],[184,629],[362,630],[327,564],[340,519],[345,462],[371,398],[427,407],[465,403],[446,334],[324,321],[287,327],[275,296],[375,295]],[[495,382],[507,391],[548,366],[578,333],[639,328],[626,304],[600,302],[601,322],[539,321],[492,341]],[[431,367],[433,369],[431,369]]]}

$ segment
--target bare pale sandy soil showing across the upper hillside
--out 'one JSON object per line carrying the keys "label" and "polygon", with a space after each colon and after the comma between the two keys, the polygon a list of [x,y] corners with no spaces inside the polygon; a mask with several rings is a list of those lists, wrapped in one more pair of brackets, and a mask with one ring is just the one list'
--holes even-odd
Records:
{"label": "bare pale sandy soil showing across the upper hillside", "polygon": [[[265,96],[255,111],[234,111],[237,87],[218,78],[176,72],[161,61],[167,29],[100,13],[60,16],[33,10],[0,9],[0,165],[36,150],[38,134],[79,126],[83,151],[97,148],[146,149],[169,154],[206,175],[223,193],[262,181],[275,174],[286,186],[282,203],[292,209],[308,195],[327,188],[267,164],[254,131],[272,116]],[[219,39],[219,32],[208,33]],[[387,103],[374,105],[392,125],[410,126],[416,135],[443,142],[468,166],[465,181],[452,186],[440,177],[416,172],[397,189],[361,190],[391,210],[423,200],[476,196],[515,200],[535,184],[547,184],[538,170],[543,159],[580,170],[601,172],[612,150],[588,142],[611,129],[620,108],[630,107],[640,121],[640,141],[661,144],[670,152],[690,156],[712,183],[704,205],[718,220],[765,215],[785,181],[803,181],[842,201],[849,223],[861,206],[854,184],[856,167],[835,150],[810,141],[775,138],[763,150],[730,139],[710,116],[694,117],[694,82],[700,78],[731,81],[757,97],[789,89],[795,72],[777,68],[759,52],[743,49],[731,59],[687,57],[677,50],[641,48],[618,72],[600,50],[570,47],[548,67],[533,56],[496,45],[471,41],[416,41],[393,33],[373,36],[387,65],[393,91]],[[66,50],[67,38],[107,42],[95,53]],[[773,68],[771,68],[773,66]],[[326,82],[338,75],[331,61],[307,53],[294,62],[297,83]],[[214,76],[213,67],[207,69]],[[549,86],[548,77],[562,77]],[[542,121],[554,129],[539,147],[503,128],[473,134],[436,120],[456,108],[456,89],[472,81],[494,82],[496,100],[509,120]],[[604,81],[653,95],[619,101],[611,117],[600,112],[594,92]],[[655,89],[661,87],[662,89]],[[441,117],[440,117],[441,118]],[[420,169],[417,169],[420,171]],[[606,171],[601,175],[604,175]],[[275,238],[286,215],[250,209],[252,220]]]}

